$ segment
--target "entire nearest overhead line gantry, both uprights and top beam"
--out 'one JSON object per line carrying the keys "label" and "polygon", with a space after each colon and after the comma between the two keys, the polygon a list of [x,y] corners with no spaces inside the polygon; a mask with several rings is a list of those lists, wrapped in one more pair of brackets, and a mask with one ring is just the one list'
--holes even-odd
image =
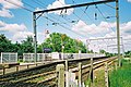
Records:
{"label": "entire nearest overhead line gantry, both uprights and top beam", "polygon": [[[35,45],[35,61],[37,62],[37,32],[36,32],[36,21],[45,13],[45,12],[52,12],[58,10],[67,10],[72,8],[80,8],[80,7],[90,7],[94,4],[103,4],[108,2],[116,2],[116,20],[117,20],[117,45],[118,45],[118,59],[119,59],[119,66],[121,66],[121,59],[120,59],[120,30],[119,30],[119,2],[118,0],[104,0],[104,1],[95,1],[95,2],[88,2],[88,3],[82,3],[82,4],[74,4],[74,5],[68,5],[62,8],[56,8],[56,9],[48,9],[43,11],[35,11],[33,12],[33,27],[34,27],[34,45]],[[36,17],[36,14],[39,14]]]}

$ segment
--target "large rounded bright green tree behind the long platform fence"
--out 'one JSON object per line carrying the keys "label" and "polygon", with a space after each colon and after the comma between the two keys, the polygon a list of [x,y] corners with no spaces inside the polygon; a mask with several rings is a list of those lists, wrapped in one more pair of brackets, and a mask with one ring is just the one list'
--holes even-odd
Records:
{"label": "large rounded bright green tree behind the long platform fence", "polygon": [[52,33],[49,36],[45,42],[38,46],[39,50],[41,48],[51,48],[52,52],[62,52],[62,50],[66,53],[76,53],[79,50],[86,52],[85,45],[82,41],[72,39],[66,34]]}

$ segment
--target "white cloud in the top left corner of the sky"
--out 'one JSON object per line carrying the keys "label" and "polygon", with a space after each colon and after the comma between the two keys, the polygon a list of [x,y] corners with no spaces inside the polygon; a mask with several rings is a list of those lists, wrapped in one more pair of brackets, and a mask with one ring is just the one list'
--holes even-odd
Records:
{"label": "white cloud in the top left corner of the sky", "polygon": [[0,10],[0,16],[13,17],[13,14],[11,13],[10,9],[19,9],[20,7],[16,7],[10,2],[23,7],[22,0],[0,0],[0,4],[2,5]]}

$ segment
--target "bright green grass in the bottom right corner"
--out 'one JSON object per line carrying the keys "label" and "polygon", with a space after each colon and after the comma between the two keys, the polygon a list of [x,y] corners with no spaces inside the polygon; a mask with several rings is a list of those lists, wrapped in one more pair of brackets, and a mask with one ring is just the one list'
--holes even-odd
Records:
{"label": "bright green grass in the bottom right corner", "polygon": [[122,67],[109,75],[110,87],[131,87],[131,63],[122,60]]}

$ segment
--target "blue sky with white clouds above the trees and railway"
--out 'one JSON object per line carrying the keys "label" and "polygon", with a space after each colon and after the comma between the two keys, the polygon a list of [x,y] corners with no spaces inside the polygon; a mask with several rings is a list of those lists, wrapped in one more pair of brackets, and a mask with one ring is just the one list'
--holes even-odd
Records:
{"label": "blue sky with white clouds above the trees and railway", "polygon": [[[34,36],[34,11],[93,1],[98,0],[0,0],[0,34],[4,34],[12,42],[21,42],[27,36]],[[38,44],[44,42],[48,29],[50,34],[62,33],[85,44],[87,41],[88,48],[95,51],[105,49],[116,52],[116,38],[90,40],[117,37],[115,5],[115,2],[110,2],[44,13],[37,18]],[[119,17],[120,44],[128,51],[131,50],[131,0],[119,0]]]}

